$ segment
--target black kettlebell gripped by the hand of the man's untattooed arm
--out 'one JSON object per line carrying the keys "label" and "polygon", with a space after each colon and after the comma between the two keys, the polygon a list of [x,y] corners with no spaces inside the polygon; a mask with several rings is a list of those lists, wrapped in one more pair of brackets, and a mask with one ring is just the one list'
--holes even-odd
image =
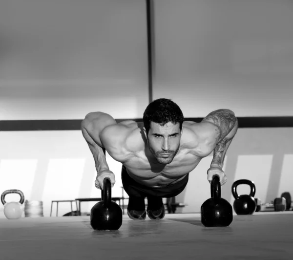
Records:
{"label": "black kettlebell gripped by the hand of the man's untattooed arm", "polygon": [[118,230],[122,225],[122,209],[111,201],[111,182],[104,179],[102,201],[96,203],[90,211],[90,225],[94,230]]}

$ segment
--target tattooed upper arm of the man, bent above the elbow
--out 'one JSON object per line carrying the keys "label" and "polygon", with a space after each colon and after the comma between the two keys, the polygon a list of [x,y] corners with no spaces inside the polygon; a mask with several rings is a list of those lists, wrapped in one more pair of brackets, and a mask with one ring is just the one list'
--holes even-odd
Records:
{"label": "tattooed upper arm of the man, bent above the elbow", "polygon": [[216,125],[220,130],[220,139],[224,138],[235,126],[237,118],[229,109],[218,109],[209,113],[202,122]]}

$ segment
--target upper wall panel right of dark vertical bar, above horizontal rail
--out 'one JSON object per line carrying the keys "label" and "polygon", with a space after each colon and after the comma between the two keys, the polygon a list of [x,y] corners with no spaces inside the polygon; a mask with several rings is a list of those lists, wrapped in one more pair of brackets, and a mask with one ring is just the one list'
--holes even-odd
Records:
{"label": "upper wall panel right of dark vertical bar, above horizontal rail", "polygon": [[154,98],[186,117],[293,115],[293,2],[155,0]]}

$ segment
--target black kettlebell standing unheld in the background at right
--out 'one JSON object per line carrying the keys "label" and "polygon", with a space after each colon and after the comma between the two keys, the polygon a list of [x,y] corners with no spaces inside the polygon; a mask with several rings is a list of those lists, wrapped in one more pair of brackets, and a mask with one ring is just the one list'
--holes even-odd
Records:
{"label": "black kettlebell standing unheld in the background at right", "polygon": [[[250,195],[238,195],[237,186],[240,184],[247,184],[251,188]],[[256,210],[256,201],[254,199],[255,195],[255,185],[252,181],[246,179],[236,180],[232,184],[232,195],[235,198],[233,203],[233,209],[237,215],[251,215]]]}

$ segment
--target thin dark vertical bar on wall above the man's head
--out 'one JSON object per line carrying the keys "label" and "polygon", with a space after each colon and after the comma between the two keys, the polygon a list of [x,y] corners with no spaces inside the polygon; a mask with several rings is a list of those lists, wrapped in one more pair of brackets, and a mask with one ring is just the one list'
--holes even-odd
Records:
{"label": "thin dark vertical bar on wall above the man's head", "polygon": [[152,79],[152,0],[146,0],[146,32],[147,32],[147,63],[148,63],[148,102],[153,99]]}

